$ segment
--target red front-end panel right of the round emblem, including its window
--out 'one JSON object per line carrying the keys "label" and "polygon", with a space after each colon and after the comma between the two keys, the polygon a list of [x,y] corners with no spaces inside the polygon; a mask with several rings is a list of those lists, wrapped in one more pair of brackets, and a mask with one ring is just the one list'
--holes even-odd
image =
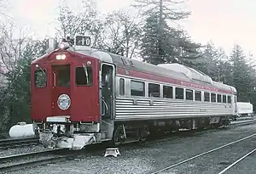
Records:
{"label": "red front-end panel right of the round emblem, including its window", "polygon": [[71,121],[100,122],[99,60],[81,59],[71,68]]}

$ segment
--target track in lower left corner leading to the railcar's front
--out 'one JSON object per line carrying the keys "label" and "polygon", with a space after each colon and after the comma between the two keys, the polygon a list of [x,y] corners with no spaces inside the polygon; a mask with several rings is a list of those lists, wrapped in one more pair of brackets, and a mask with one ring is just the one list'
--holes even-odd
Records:
{"label": "track in lower left corner leading to the railcar's front", "polygon": [[16,171],[26,167],[46,165],[49,163],[67,160],[74,155],[67,149],[50,149],[26,154],[15,154],[0,157],[0,173]]}

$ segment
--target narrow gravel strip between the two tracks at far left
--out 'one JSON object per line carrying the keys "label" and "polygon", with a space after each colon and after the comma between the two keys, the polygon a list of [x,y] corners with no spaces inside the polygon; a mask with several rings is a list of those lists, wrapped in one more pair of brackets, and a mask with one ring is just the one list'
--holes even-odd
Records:
{"label": "narrow gravel strip between the two tracks at far left", "polygon": [[25,154],[29,152],[38,152],[44,149],[45,149],[44,146],[41,144],[20,147],[15,149],[0,149],[0,157],[14,155],[14,154]]}

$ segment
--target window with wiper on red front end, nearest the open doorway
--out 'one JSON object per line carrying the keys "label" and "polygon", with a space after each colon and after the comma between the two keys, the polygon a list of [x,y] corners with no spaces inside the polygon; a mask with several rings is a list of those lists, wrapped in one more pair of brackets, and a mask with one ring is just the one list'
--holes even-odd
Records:
{"label": "window with wiper on red front end, nearest the open doorway", "polygon": [[76,85],[77,86],[92,85],[92,68],[90,66],[76,68]]}

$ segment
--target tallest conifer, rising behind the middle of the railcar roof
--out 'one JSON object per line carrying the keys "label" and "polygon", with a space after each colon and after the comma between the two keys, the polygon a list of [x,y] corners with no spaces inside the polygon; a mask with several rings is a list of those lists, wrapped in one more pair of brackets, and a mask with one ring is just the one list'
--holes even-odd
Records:
{"label": "tallest conifer, rising behind the middle of the railcar roof", "polygon": [[199,57],[199,44],[189,41],[184,31],[178,31],[169,25],[169,20],[182,20],[189,12],[171,9],[170,5],[181,2],[171,0],[137,0],[134,5],[143,9],[146,24],[143,27],[141,55],[143,60],[154,65],[181,63],[191,65],[189,59]]}

